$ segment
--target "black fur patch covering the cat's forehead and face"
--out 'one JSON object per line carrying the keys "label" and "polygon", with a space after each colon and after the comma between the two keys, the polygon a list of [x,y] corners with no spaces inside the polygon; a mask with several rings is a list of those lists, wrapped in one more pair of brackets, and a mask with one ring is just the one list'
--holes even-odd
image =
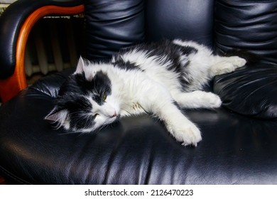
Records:
{"label": "black fur patch covering the cat's forehead and face", "polygon": [[71,75],[60,87],[56,99],[55,112],[67,110],[70,129],[89,129],[94,126],[95,116],[92,114],[92,104],[87,97],[101,105],[104,98],[112,93],[111,80],[104,72],[97,72],[92,80],[85,78],[85,73]]}

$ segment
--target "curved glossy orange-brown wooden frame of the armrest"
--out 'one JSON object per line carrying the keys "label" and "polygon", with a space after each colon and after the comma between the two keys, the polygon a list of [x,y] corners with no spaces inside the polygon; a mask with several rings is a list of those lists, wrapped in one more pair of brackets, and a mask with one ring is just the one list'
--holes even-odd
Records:
{"label": "curved glossy orange-brown wooden frame of the armrest", "polygon": [[28,40],[29,33],[33,28],[34,24],[38,19],[43,18],[43,16],[49,15],[75,15],[81,14],[85,10],[84,5],[73,6],[73,7],[63,7],[63,6],[43,6],[34,11],[21,27],[21,31],[18,36],[16,44],[16,68],[11,77],[6,80],[0,80],[0,97],[2,102],[7,102],[12,97],[16,96],[18,92],[27,87],[25,68],[24,68],[24,58],[26,43]]}

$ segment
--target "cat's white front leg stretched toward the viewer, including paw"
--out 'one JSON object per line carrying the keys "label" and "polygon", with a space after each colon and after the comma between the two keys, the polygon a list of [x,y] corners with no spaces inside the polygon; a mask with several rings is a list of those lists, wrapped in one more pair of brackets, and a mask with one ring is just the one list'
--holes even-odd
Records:
{"label": "cat's white front leg stretched toward the viewer, including paw", "polygon": [[152,112],[161,119],[177,141],[184,146],[194,145],[201,141],[200,130],[185,117],[175,104],[170,93],[163,87],[152,86],[151,90],[146,90],[146,95],[140,99],[140,104],[146,112]]}

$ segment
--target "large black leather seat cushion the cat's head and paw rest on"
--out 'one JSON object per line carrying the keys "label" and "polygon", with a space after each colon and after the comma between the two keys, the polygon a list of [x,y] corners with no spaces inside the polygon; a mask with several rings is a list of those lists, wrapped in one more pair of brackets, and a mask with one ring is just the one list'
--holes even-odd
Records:
{"label": "large black leather seat cushion the cat's head and paw rest on", "polygon": [[92,134],[53,129],[43,117],[70,72],[38,80],[0,108],[0,171],[16,183],[277,183],[276,122],[224,107],[184,110],[202,131],[196,148],[181,146],[147,115]]}

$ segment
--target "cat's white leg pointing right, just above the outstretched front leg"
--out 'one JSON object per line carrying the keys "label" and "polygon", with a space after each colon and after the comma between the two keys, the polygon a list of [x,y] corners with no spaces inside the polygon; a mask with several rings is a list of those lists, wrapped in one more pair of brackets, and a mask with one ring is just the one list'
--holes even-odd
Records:
{"label": "cat's white leg pointing right, just above the outstretched front leg", "polygon": [[173,99],[175,99],[175,102],[177,102],[181,108],[187,109],[213,109],[220,107],[222,104],[222,101],[218,95],[202,90],[196,90],[193,92],[180,92],[176,95],[173,95]]}

